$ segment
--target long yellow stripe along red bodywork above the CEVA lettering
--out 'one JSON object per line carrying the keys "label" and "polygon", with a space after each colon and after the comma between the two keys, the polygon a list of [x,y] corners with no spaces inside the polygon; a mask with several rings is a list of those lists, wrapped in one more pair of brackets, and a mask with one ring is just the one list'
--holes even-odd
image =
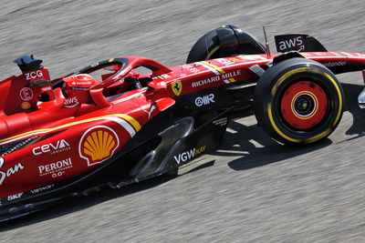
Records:
{"label": "long yellow stripe along red bodywork above the CEVA lettering", "polygon": [[61,129],[61,128],[64,128],[64,127],[70,127],[70,126],[73,126],[73,125],[78,125],[78,124],[81,124],[81,123],[86,123],[86,122],[89,122],[89,121],[102,119],[102,118],[106,118],[106,117],[110,117],[110,116],[118,116],[120,118],[123,118],[123,119],[127,120],[130,123],[130,125],[132,127],[134,127],[136,132],[138,132],[141,129],[140,123],[136,119],[134,119],[133,117],[128,116],[126,114],[112,114],[112,115],[108,115],[108,116],[98,116],[98,117],[94,117],[94,118],[89,118],[89,119],[85,119],[85,120],[71,122],[71,123],[68,123],[68,124],[65,124],[65,125],[60,125],[60,126],[57,126],[57,127],[37,129],[37,130],[29,131],[29,132],[26,132],[26,133],[18,134],[18,135],[13,136],[13,137],[6,137],[4,139],[1,139],[0,143],[5,142],[7,140],[16,139],[17,137],[25,137],[25,136],[31,135],[31,134],[46,133],[48,131],[57,130],[57,129]]}

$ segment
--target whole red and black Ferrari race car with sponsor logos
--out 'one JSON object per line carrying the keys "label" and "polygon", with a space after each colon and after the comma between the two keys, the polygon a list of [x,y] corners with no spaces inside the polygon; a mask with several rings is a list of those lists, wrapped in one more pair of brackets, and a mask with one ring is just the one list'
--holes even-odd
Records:
{"label": "whole red and black Ferrari race car with sponsor logos", "polygon": [[277,35],[276,48],[224,25],[182,66],[123,56],[51,80],[42,60],[16,59],[22,74],[0,82],[0,221],[176,173],[220,145],[240,108],[284,144],[328,137],[343,111],[335,74],[364,70],[365,54],[309,35]]}

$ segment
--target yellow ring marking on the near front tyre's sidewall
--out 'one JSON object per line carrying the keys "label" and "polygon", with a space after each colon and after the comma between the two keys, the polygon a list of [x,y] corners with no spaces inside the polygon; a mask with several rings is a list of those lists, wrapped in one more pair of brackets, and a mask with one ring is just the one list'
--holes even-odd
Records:
{"label": "yellow ring marking on the near front tyre's sidewall", "polygon": [[[285,75],[281,76],[277,82],[276,85],[273,86],[273,88],[271,89],[271,95],[274,96],[276,94],[276,90],[277,87],[281,85],[281,83],[284,82],[284,80],[286,80],[289,76],[295,75],[297,73],[300,72],[308,72],[308,71],[312,71],[321,75],[326,76],[329,81],[331,81],[331,83],[333,84],[333,86],[335,86],[336,91],[339,95],[339,113],[336,116],[335,122],[333,123],[332,127],[335,126],[338,122],[339,122],[339,117],[341,116],[341,111],[342,111],[342,96],[341,96],[341,92],[339,89],[338,84],[336,83],[336,81],[332,78],[332,76],[329,76],[327,73],[322,72],[321,70],[319,70],[318,68],[313,68],[313,67],[299,67],[297,69],[293,69],[290,70],[289,72],[287,72]],[[274,127],[274,129],[276,130],[276,133],[278,133],[281,137],[284,137],[285,139],[287,139],[288,141],[294,142],[294,143],[298,143],[300,142],[300,140],[292,138],[292,137],[287,137],[287,135],[283,134],[283,132],[281,132],[278,127],[276,127],[274,118],[273,118],[273,114],[272,114],[272,110],[271,110],[271,103],[268,104],[267,106],[267,112],[268,112],[268,116],[269,116],[269,120],[271,125]],[[323,137],[328,136],[328,134],[331,132],[331,127],[329,127],[326,131],[314,136],[314,137],[309,137],[308,139],[305,140],[306,143],[313,143]]]}

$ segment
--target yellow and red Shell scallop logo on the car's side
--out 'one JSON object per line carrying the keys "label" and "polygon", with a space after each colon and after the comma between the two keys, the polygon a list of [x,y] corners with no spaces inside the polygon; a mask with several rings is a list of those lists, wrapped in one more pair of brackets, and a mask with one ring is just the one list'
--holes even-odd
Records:
{"label": "yellow and red Shell scallop logo on the car's side", "polygon": [[100,164],[113,156],[120,146],[117,133],[106,126],[89,128],[81,137],[78,152],[88,161],[88,166]]}

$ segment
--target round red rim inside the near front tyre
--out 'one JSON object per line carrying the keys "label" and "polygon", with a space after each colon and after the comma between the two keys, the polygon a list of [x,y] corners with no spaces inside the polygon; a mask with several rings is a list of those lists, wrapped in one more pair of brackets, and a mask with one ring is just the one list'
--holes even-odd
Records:
{"label": "round red rim inside the near front tyre", "polygon": [[297,129],[315,127],[326,116],[328,96],[315,82],[300,81],[287,87],[281,98],[281,114]]}

